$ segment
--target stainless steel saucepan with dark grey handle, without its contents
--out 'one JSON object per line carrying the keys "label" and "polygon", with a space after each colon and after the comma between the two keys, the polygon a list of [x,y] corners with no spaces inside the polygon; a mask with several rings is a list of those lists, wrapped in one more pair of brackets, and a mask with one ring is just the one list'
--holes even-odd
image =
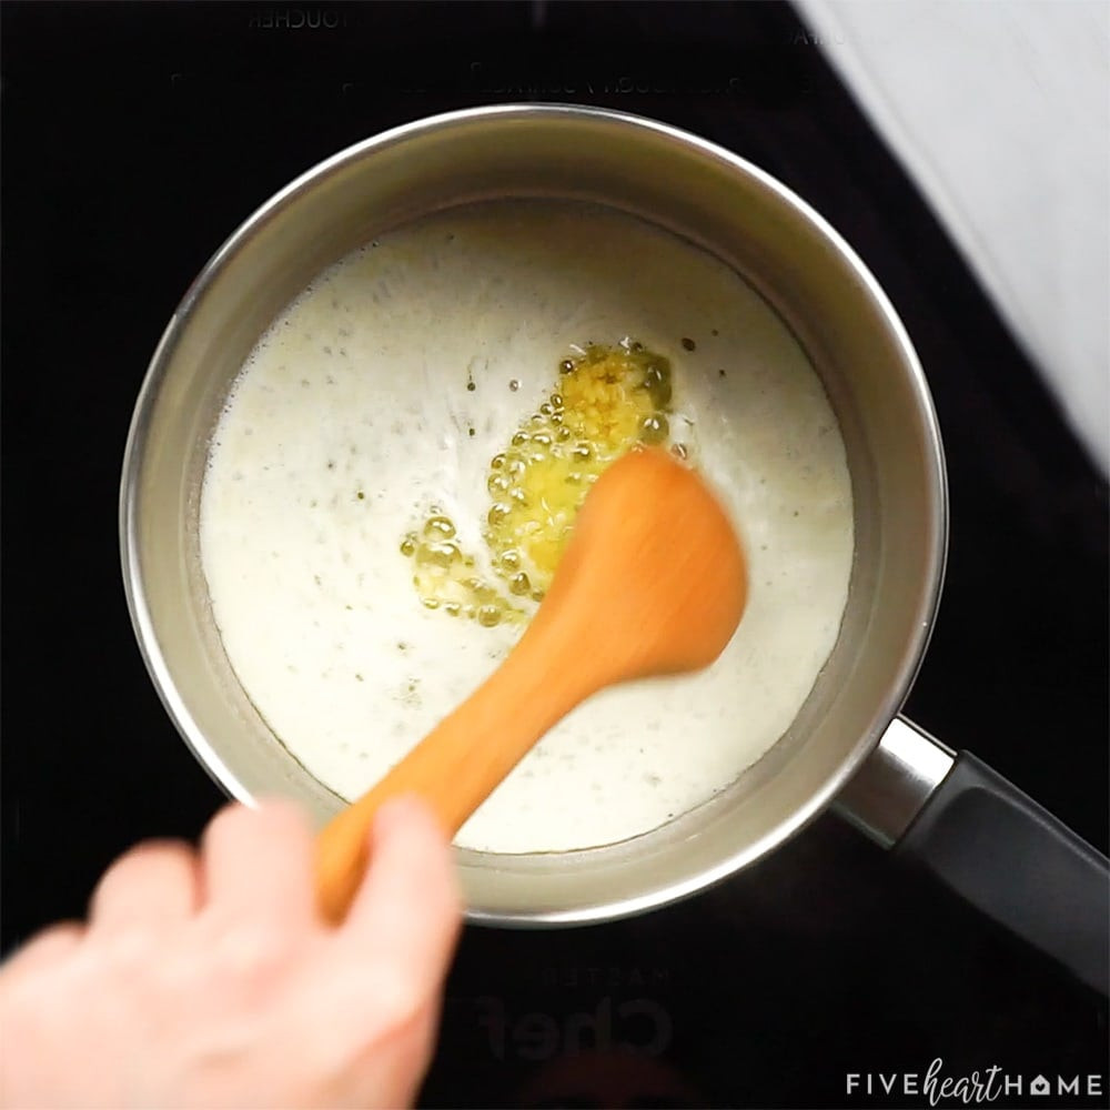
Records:
{"label": "stainless steel saucepan with dark grey handle, without its contents", "polygon": [[778,312],[840,423],[856,553],[836,646],[764,758],[693,811],[620,844],[523,856],[460,849],[470,918],[555,926],[638,914],[725,879],[835,805],[1104,990],[1104,857],[899,715],[929,640],[947,542],[940,434],[906,330],[803,200],[728,151],[650,120],[523,104],[389,131],[279,192],[189,289],[138,398],[120,526],[140,649],[196,757],[244,801],[284,793],[321,823],[342,805],[240,687],[201,572],[206,451],[243,360],[315,274],[375,234],[453,205],[537,196],[601,203],[673,231]]}

